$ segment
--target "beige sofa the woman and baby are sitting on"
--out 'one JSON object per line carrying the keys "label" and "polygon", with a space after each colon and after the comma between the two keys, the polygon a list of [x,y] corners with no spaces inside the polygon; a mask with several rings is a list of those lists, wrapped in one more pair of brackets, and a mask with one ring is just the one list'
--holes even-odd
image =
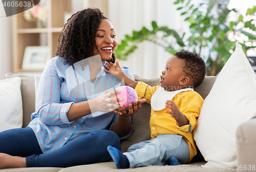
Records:
{"label": "beige sofa the woman and baby are sitting on", "polygon": [[[154,79],[143,79],[134,75],[137,81],[143,81],[151,86],[158,85],[160,78]],[[23,101],[23,125],[22,127],[26,127],[30,122],[31,113],[35,111],[35,85],[38,83],[39,77],[36,76],[24,76],[18,74],[7,73],[7,78],[19,77],[21,79],[20,90]],[[202,98],[208,95],[211,90],[212,85],[216,80],[216,76],[206,76],[204,81],[199,85],[199,87],[195,88]],[[35,83],[36,82],[36,83]],[[151,106],[147,103],[143,103],[141,109],[138,113],[132,116],[133,122],[133,133],[132,135],[126,139],[121,141],[120,150],[122,152],[126,152],[127,148],[134,143],[150,140],[150,112]],[[239,126],[237,130],[237,162],[239,165],[246,164],[255,164],[256,157],[256,119],[253,118],[242,125]],[[1,139],[1,138],[0,138]],[[210,147],[209,147],[210,148]],[[1,163],[1,162],[0,162]],[[146,166],[139,168],[131,168],[131,169],[116,169],[114,162],[104,162],[104,163],[96,163],[90,165],[80,165],[73,166],[67,168],[56,168],[56,167],[37,167],[37,168],[13,168],[13,169],[1,169],[0,172],[5,171],[59,171],[59,172],[68,172],[68,171],[219,171],[218,168],[201,168],[201,165],[204,165],[206,161],[204,157],[201,155],[198,150],[198,154],[194,157],[190,164],[176,165],[176,166]],[[199,168],[200,167],[200,168]],[[221,171],[230,171],[236,169],[222,169]],[[238,169],[240,171],[245,170]]]}

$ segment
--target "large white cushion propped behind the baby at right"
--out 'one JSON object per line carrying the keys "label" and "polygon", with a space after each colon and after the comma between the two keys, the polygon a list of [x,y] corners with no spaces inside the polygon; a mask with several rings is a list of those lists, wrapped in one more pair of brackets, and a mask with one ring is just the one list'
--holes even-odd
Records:
{"label": "large white cushion propped behind the baby at right", "polygon": [[256,75],[237,43],[205,98],[194,139],[205,166],[237,164],[236,132],[256,116]]}

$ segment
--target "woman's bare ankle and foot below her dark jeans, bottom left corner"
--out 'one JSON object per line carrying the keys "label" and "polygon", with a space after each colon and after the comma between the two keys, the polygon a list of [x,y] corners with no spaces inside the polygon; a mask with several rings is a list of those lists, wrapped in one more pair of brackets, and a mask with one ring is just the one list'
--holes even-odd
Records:
{"label": "woman's bare ankle and foot below her dark jeans, bottom left corner", "polygon": [[0,153],[0,169],[27,167],[26,158]]}

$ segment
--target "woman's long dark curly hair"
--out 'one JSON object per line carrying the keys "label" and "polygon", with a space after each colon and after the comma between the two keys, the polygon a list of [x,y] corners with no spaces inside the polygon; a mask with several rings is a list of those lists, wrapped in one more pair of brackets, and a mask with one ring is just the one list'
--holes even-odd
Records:
{"label": "woman's long dark curly hair", "polygon": [[[99,9],[87,8],[73,14],[58,37],[58,46],[54,56],[66,58],[65,65],[74,65],[74,63],[94,56],[97,29],[101,19],[108,19],[102,15]],[[98,50],[99,52],[99,50]],[[99,53],[100,54],[100,53]],[[115,54],[108,62],[115,62]]]}

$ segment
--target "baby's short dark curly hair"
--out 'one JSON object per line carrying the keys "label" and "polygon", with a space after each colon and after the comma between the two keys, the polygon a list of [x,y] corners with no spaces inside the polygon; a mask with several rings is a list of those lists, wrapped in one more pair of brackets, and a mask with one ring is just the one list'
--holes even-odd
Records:
{"label": "baby's short dark curly hair", "polygon": [[191,77],[194,83],[193,87],[198,87],[203,82],[206,73],[206,65],[202,57],[188,51],[177,52],[175,56],[185,59],[183,72]]}

